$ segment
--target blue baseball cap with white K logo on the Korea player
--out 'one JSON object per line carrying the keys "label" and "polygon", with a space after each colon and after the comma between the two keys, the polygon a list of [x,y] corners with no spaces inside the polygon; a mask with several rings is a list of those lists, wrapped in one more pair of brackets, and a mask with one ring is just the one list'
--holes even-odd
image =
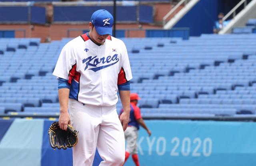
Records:
{"label": "blue baseball cap with white K logo on the Korea player", "polygon": [[112,26],[114,24],[114,18],[107,10],[97,10],[92,14],[90,21],[94,25],[96,32],[98,32],[98,34],[112,35]]}

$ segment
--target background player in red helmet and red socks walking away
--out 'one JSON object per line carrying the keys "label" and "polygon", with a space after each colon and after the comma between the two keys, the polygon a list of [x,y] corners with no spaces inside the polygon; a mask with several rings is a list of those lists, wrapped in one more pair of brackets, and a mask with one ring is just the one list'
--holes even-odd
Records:
{"label": "background player in red helmet and red socks walking away", "polygon": [[[138,130],[140,125],[147,130],[148,136],[151,136],[151,131],[148,130],[144,120],[140,115],[140,108],[137,107],[138,100],[140,97],[136,93],[130,94],[130,120],[128,123],[128,128],[124,132],[125,139],[127,141],[127,147],[125,152],[125,161],[129,158],[130,154],[132,154],[132,160],[136,164],[136,166],[140,166],[139,158],[138,158],[138,150],[137,150],[137,139],[138,139]],[[124,109],[121,110],[120,115],[124,113]]]}

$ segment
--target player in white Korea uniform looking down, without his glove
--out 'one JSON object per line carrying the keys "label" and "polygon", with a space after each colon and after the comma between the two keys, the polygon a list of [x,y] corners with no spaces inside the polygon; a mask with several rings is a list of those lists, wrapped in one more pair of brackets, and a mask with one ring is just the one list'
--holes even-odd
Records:
{"label": "player in white Korea uniform looking down, without his glove", "polygon": [[[111,36],[113,24],[107,10],[94,12],[90,32],[63,47],[53,72],[58,77],[60,128],[71,123],[79,132],[73,166],[92,166],[96,147],[103,159],[100,166],[124,163],[132,72],[124,42]],[[120,118],[118,91],[124,107]]]}

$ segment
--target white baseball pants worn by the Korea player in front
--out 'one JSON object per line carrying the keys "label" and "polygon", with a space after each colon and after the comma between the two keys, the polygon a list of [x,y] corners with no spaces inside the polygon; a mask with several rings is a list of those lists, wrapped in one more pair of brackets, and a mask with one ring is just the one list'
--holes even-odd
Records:
{"label": "white baseball pants worn by the Korea player in front", "polygon": [[116,106],[93,106],[69,99],[71,124],[79,132],[73,148],[73,166],[92,166],[96,147],[99,166],[121,166],[125,158],[124,131]]}

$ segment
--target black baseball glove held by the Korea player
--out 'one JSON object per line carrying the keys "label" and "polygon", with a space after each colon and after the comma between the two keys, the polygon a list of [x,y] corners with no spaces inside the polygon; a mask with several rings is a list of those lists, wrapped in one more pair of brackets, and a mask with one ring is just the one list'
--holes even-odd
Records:
{"label": "black baseball glove held by the Korea player", "polygon": [[59,122],[53,122],[48,131],[49,141],[52,148],[67,149],[72,148],[78,142],[78,132],[68,124],[67,131],[62,130]]}

